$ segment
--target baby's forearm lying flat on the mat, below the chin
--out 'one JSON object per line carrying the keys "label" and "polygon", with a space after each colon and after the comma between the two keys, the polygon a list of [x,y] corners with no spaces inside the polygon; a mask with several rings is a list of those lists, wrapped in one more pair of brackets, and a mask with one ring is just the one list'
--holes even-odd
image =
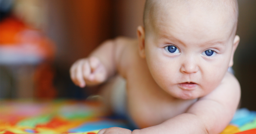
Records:
{"label": "baby's forearm lying flat on the mat, below the chin", "polygon": [[205,124],[194,114],[181,114],[160,125],[134,130],[132,134],[209,134]]}

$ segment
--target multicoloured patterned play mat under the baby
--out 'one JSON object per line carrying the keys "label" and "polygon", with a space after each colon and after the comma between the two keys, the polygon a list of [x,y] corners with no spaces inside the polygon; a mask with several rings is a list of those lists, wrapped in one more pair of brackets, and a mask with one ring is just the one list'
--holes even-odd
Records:
{"label": "multicoloured patterned play mat under the baby", "polygon": [[[97,102],[0,100],[0,134],[97,134],[100,129],[133,129],[120,116],[107,115]],[[237,110],[221,134],[256,134],[256,111]]]}

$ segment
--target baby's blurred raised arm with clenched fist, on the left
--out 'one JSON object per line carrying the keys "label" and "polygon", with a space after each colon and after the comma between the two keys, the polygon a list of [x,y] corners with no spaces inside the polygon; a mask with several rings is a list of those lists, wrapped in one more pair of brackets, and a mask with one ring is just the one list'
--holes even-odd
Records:
{"label": "baby's blurred raised arm with clenched fist, on the left", "polygon": [[70,68],[71,80],[79,87],[85,87],[103,83],[108,77],[113,76],[120,51],[124,47],[123,44],[116,45],[120,40],[124,39],[103,42],[89,57],[77,60]]}

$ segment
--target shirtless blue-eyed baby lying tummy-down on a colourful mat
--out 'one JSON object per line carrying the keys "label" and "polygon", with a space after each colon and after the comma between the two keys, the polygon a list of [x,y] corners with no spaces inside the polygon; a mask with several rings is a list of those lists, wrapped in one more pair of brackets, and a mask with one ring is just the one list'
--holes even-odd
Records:
{"label": "shirtless blue-eyed baby lying tummy-down on a colourful mat", "polygon": [[240,100],[239,83],[227,71],[239,43],[237,1],[147,0],[143,19],[137,40],[106,41],[70,69],[80,87],[116,73],[125,79],[122,98],[139,129],[112,127],[98,134],[223,131]]}

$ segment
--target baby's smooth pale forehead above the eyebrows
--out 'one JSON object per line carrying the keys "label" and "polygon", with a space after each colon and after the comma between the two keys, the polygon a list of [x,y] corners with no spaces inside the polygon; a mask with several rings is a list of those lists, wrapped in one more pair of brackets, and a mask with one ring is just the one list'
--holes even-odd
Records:
{"label": "baby's smooth pale forehead above the eyebrows", "polygon": [[207,6],[175,5],[158,7],[152,19],[158,36],[189,41],[227,40],[234,33],[234,21],[226,14]]}

